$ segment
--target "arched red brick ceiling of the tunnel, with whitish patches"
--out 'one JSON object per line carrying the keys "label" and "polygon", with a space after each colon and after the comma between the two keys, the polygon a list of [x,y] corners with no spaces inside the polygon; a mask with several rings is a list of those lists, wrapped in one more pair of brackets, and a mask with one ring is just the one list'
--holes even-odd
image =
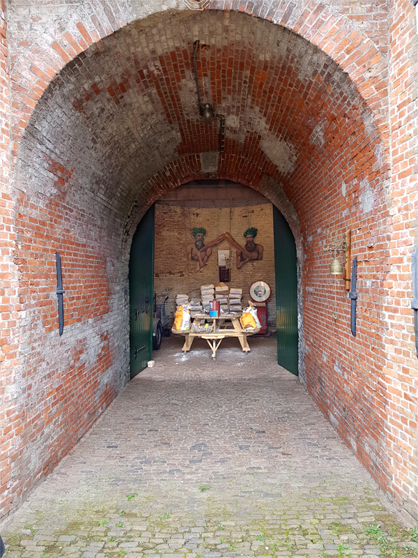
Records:
{"label": "arched red brick ceiling of the tunnel, with whitish patches", "polygon": [[95,199],[123,221],[134,199],[146,203],[151,176],[175,160],[216,151],[216,124],[198,114],[197,38],[201,98],[226,116],[219,176],[242,180],[245,161],[259,171],[254,186],[271,176],[297,211],[307,203],[313,210],[337,179],[376,178],[370,160],[379,163],[378,133],[348,76],[284,28],[211,10],[151,16],[68,63],[29,121],[19,181],[38,181],[54,195],[56,176],[47,169],[56,174],[61,165],[71,174],[65,188],[78,184],[89,192],[86,202]]}

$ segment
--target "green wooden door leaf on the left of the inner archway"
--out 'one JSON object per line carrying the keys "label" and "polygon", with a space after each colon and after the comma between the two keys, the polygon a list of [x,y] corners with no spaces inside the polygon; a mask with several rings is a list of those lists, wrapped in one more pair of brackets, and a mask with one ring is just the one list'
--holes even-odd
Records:
{"label": "green wooden door leaf on the left of the inner archway", "polygon": [[132,239],[129,262],[130,377],[146,368],[153,353],[155,206],[150,207]]}

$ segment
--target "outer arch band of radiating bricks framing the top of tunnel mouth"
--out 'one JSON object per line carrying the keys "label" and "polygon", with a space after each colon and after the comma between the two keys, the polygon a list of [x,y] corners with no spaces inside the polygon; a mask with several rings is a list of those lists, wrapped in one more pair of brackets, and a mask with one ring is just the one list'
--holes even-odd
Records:
{"label": "outer arch band of radiating bricks framing the top of tunnel mouth", "polygon": [[[91,14],[73,10],[70,30],[63,33],[45,33],[33,41],[28,52],[20,54],[11,69],[13,97],[18,117],[12,122],[15,142],[22,136],[33,108],[54,77],[77,56],[83,55],[91,45],[131,24],[139,17],[158,14],[148,6],[145,13],[133,13],[126,8],[119,18],[109,17],[110,8],[102,6],[104,23]],[[243,11],[229,2],[212,1],[210,10]],[[303,10],[295,3],[281,0],[277,3],[252,2],[245,13],[285,27],[316,45],[334,60],[350,77],[373,112],[377,126],[384,127],[382,112],[387,107],[386,63],[382,52],[365,33],[335,8],[318,0],[311,0]],[[191,16],[192,17],[192,16]],[[78,20],[78,21],[77,21]],[[383,131],[383,130],[382,130]],[[12,151],[16,156],[16,151]]]}

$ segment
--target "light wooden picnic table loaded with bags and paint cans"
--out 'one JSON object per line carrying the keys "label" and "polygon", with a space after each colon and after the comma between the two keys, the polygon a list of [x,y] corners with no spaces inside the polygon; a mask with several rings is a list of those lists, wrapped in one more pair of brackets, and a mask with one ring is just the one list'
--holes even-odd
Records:
{"label": "light wooden picnic table loaded with bags and paint cans", "polygon": [[[192,318],[192,327],[190,331],[183,331],[185,335],[185,344],[183,345],[183,351],[187,352],[191,349],[194,338],[200,337],[206,339],[210,349],[212,349],[212,360],[216,360],[216,352],[221,345],[222,339],[226,337],[238,337],[242,350],[247,354],[251,349],[249,348],[247,335],[254,335],[258,333],[260,329],[242,329],[240,322],[241,313],[235,313],[231,315],[223,315],[219,317],[212,317],[206,314],[198,314]],[[193,326],[200,326],[202,322],[212,320],[213,330],[210,333],[197,333],[192,331]],[[225,324],[225,322],[231,322],[231,325]],[[180,332],[179,332],[180,333]]]}

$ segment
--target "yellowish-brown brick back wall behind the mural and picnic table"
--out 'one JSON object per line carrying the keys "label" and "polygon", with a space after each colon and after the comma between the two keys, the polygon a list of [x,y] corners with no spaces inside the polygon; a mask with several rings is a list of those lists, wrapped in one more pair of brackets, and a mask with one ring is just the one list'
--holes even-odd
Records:
{"label": "yellowish-brown brick back wall behind the mural and picnic table", "polygon": [[[194,190],[197,190],[194,188]],[[227,186],[223,188],[228,188]],[[276,326],[276,296],[274,273],[274,231],[272,204],[267,199],[245,200],[246,190],[241,187],[232,197],[223,192],[222,199],[208,199],[201,188],[201,200],[173,200],[170,195],[162,197],[155,206],[155,256],[154,256],[154,290],[157,303],[166,296],[166,311],[173,319],[176,310],[176,294],[188,294],[189,297],[201,297],[201,285],[219,282],[217,250],[229,250],[233,260],[230,287],[242,288],[243,308],[248,306],[249,287],[254,281],[264,280],[272,289],[267,302],[268,323]],[[237,189],[238,190],[238,189]],[[256,227],[256,243],[263,245],[263,260],[248,262],[241,269],[236,268],[236,250],[227,241],[222,241],[212,249],[212,255],[203,269],[198,271],[198,264],[187,259],[187,246],[194,244],[193,227],[206,229],[206,243],[219,234],[229,232],[233,238],[245,246],[243,233],[249,227]]]}

